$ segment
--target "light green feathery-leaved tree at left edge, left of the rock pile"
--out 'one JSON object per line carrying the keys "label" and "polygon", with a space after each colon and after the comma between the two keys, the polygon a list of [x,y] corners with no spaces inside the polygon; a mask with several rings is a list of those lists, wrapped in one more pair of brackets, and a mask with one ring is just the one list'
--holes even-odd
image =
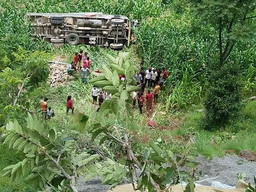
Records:
{"label": "light green feathery-leaved tree at left edge, left of the rock pile", "polygon": [[[29,52],[18,46],[3,58],[5,68],[0,71],[0,125],[8,119],[22,116],[22,109],[30,109],[29,93],[32,87],[48,78],[46,52]],[[17,105],[16,105],[17,104]],[[21,109],[22,108],[22,109]]]}

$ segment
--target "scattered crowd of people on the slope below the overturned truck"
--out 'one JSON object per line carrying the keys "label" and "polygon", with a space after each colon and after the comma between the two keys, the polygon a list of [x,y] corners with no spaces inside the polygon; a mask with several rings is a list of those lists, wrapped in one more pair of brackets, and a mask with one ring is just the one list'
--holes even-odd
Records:
{"label": "scattered crowd of people on the slope below the overturned truck", "polygon": [[[67,72],[68,74],[73,74],[76,70],[81,70],[81,81],[86,83],[87,77],[91,68],[91,59],[87,57],[87,52],[83,54],[83,50],[80,50],[79,53],[75,53],[73,62],[68,66]],[[102,73],[100,69],[95,70],[96,73]],[[146,101],[146,109],[151,110],[153,103],[156,103],[158,100],[158,94],[160,91],[160,87],[164,83],[165,79],[168,77],[168,73],[165,68],[154,69],[149,67],[146,69],[144,62],[142,61],[139,66],[139,71],[134,74],[134,79],[136,81],[137,86],[140,87],[139,91],[134,91],[131,95],[133,99],[132,108],[136,106],[136,102],[138,102],[138,107],[140,114],[142,114],[142,109],[144,106],[144,102]],[[124,81],[125,76],[119,75],[119,80]],[[148,86],[146,94],[144,96],[145,88]],[[102,89],[98,89],[96,85],[94,85],[91,89],[92,96],[92,104],[97,106],[97,101],[99,107],[97,111],[100,110],[100,107],[104,100],[110,100],[112,95],[107,94],[107,92]],[[48,98],[45,97],[43,101],[40,101],[39,104],[41,106],[42,114],[45,119],[50,119],[54,116],[54,111],[51,107],[47,106]],[[74,113],[73,101],[71,100],[71,96],[69,95],[66,100],[66,114],[68,115],[69,110]]]}

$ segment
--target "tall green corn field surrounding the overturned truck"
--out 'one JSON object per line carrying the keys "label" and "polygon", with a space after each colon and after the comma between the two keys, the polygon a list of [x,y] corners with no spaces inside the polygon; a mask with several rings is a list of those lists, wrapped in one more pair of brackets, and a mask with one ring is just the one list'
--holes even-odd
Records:
{"label": "tall green corn field surrounding the overturned truck", "polygon": [[[178,0],[2,0],[0,11],[1,70],[4,69],[2,58],[11,55],[18,46],[27,50],[45,50],[51,54],[61,52],[67,55],[83,48],[90,52],[99,67],[107,65],[104,59],[106,52],[101,48],[65,45],[55,50],[47,42],[34,41],[30,24],[26,22],[27,12],[103,12],[126,15],[130,20],[137,17],[140,27],[133,30],[136,45],[127,51],[136,53],[146,66],[165,67],[168,70],[169,78],[164,83],[161,98],[166,100],[166,110],[171,112],[199,102],[207,90],[211,71],[217,69],[215,32],[209,26],[205,26],[203,30],[194,28],[196,19],[191,18],[189,11]],[[113,56],[116,54],[112,50],[108,53]],[[236,45],[228,59],[229,62],[241,65],[245,81],[244,94],[254,95],[255,39]]]}

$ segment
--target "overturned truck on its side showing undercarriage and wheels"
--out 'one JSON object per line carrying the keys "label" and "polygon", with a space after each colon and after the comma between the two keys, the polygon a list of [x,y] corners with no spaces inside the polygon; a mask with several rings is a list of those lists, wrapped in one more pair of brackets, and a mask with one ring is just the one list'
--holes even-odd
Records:
{"label": "overturned truck on its side showing undercarriage and wheels", "polygon": [[50,14],[28,13],[32,34],[53,46],[89,44],[112,49],[129,46],[131,23],[128,17],[99,12]]}

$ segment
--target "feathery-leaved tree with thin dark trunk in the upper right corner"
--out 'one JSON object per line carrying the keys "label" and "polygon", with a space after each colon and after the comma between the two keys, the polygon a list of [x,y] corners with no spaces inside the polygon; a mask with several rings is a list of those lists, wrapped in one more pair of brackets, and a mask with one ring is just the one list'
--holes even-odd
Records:
{"label": "feathery-leaved tree with thin dark trunk in the upper right corner", "polygon": [[245,42],[254,36],[255,0],[187,1],[195,18],[218,32],[219,68],[237,42]]}

